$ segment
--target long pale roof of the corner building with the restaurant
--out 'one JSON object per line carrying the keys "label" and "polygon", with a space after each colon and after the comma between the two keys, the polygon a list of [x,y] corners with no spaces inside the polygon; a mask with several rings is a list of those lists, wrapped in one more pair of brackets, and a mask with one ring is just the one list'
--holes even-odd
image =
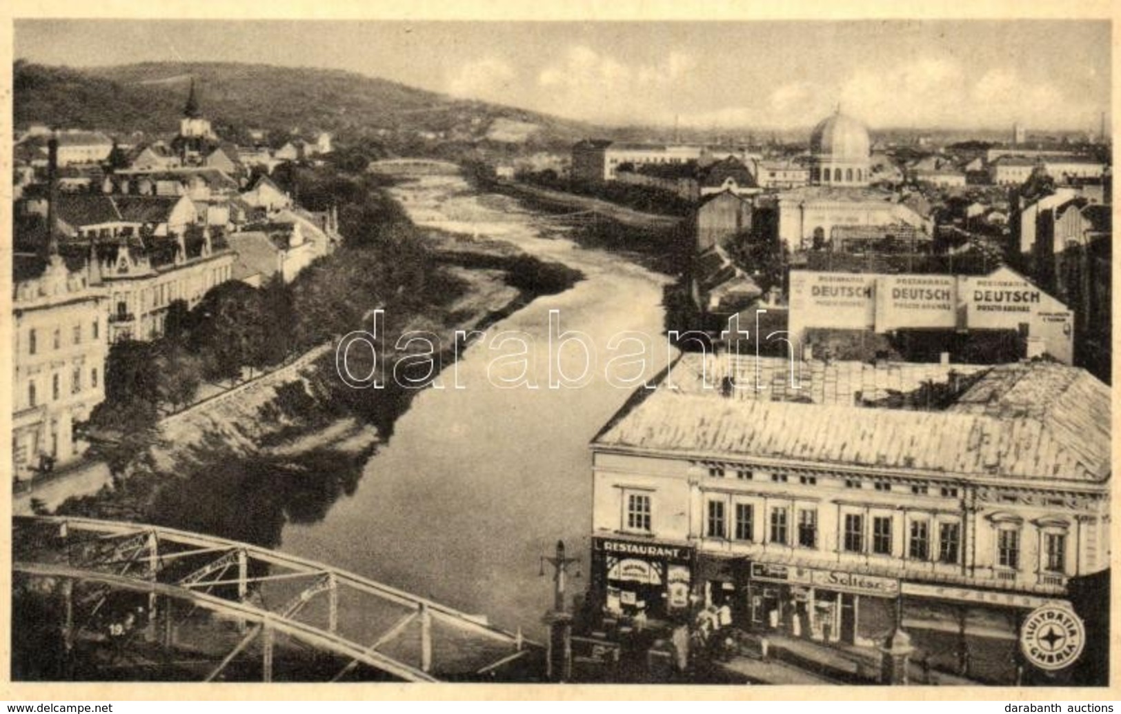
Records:
{"label": "long pale roof of the corner building with the restaurant", "polygon": [[[673,368],[697,355],[685,355]],[[1006,371],[1023,371],[1012,379]],[[991,412],[744,400],[721,389],[692,390],[663,380],[640,390],[595,438],[693,457],[785,460],[948,476],[1103,482],[1110,476],[1109,390],[1083,370],[1062,365],[994,368],[989,389],[1007,390]],[[1008,380],[1011,380],[1009,383]],[[969,393],[974,393],[974,387]],[[978,392],[980,393],[980,392]],[[989,393],[992,393],[991,391]],[[1059,395],[1044,415],[1016,411]],[[973,398],[971,398],[973,399]]]}

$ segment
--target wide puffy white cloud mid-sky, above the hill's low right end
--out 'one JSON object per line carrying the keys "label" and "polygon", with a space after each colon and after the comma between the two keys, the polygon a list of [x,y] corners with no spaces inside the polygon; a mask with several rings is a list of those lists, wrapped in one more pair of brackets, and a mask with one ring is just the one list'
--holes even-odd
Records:
{"label": "wide puffy white cloud mid-sky, above the hill's low right end", "polygon": [[611,122],[669,122],[675,98],[696,71],[686,53],[669,52],[654,64],[628,64],[576,45],[538,73],[546,111]]}

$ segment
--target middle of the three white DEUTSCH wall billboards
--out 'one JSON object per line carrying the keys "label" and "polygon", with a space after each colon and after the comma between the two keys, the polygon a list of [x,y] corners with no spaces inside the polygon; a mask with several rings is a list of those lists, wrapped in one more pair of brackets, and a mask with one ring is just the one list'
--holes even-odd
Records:
{"label": "middle of the three white DEUTSCH wall billboards", "polygon": [[881,276],[877,279],[876,332],[955,327],[955,276]]}

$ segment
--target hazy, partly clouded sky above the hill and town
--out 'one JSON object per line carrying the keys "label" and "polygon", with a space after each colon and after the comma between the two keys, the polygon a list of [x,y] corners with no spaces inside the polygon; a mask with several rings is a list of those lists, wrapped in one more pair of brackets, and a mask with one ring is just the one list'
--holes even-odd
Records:
{"label": "hazy, partly clouded sky above the hill and town", "polygon": [[605,124],[789,128],[837,104],[872,128],[1096,130],[1103,20],[17,20],[15,56],[68,65],[350,69]]}

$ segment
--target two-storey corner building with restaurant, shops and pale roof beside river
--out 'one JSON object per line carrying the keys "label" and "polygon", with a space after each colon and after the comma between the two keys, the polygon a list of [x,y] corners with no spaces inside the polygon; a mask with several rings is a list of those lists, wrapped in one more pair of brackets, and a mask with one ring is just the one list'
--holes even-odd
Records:
{"label": "two-storey corner building with restaurant, shops and pale roof beside river", "polygon": [[1022,615],[1108,567],[1109,390],[1088,373],[992,368],[917,411],[771,401],[753,380],[729,396],[719,370],[700,387],[704,362],[683,356],[592,444],[608,611],[728,604],[744,630],[867,647],[901,621],[939,667],[984,651],[973,674],[1008,681]]}

